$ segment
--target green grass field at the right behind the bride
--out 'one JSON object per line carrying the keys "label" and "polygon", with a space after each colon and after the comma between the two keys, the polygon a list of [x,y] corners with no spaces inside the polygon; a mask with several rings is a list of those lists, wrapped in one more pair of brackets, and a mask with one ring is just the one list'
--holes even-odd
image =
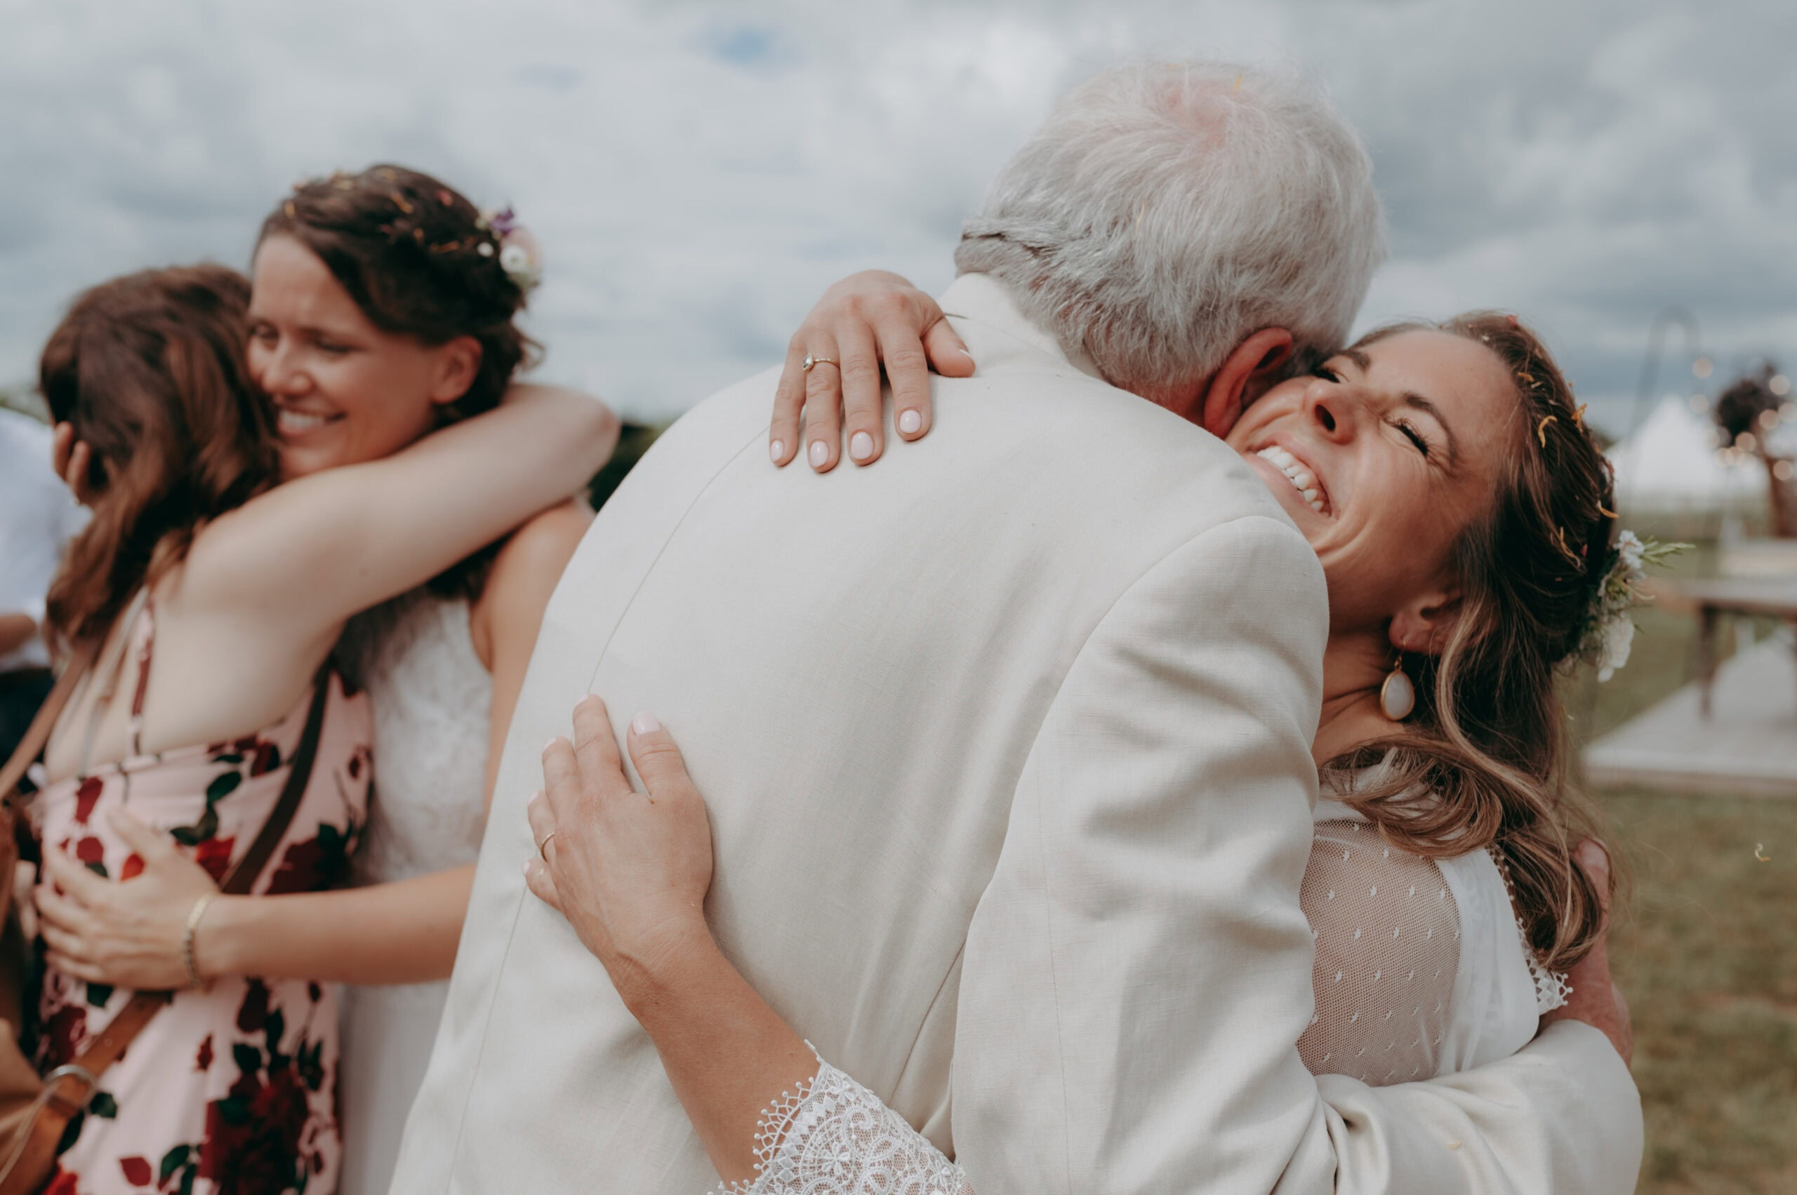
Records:
{"label": "green grass field at the right behind the bride", "polygon": [[[1691,620],[1648,609],[1637,624],[1630,667],[1571,694],[1580,737],[1686,681]],[[1632,882],[1610,945],[1648,1120],[1639,1191],[1797,1193],[1797,801],[1612,792],[1599,803]]]}

